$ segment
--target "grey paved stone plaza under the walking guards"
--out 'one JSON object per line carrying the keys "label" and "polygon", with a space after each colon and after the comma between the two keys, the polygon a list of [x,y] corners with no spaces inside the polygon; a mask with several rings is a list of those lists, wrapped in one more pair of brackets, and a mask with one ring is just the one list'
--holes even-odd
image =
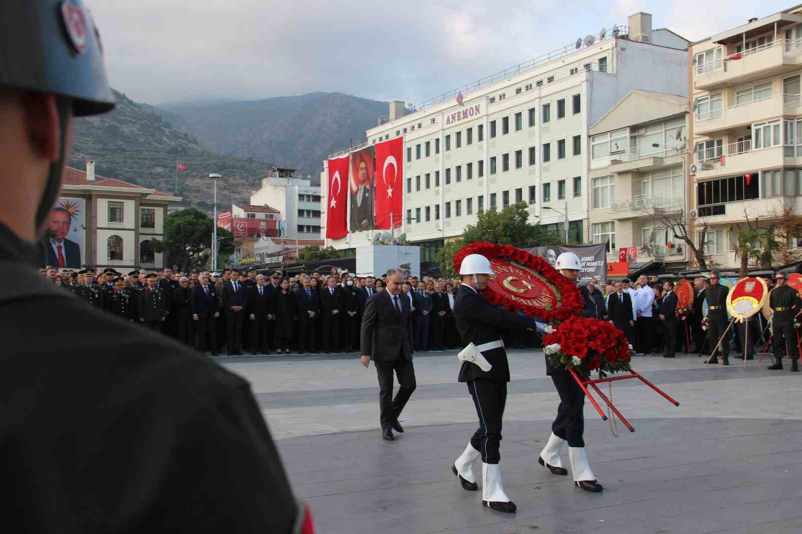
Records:
{"label": "grey paved stone plaza under the walking guards", "polygon": [[617,382],[614,402],[635,432],[619,423],[614,438],[585,403],[587,451],[605,487],[592,494],[537,464],[558,403],[542,353],[511,350],[509,359],[500,465],[516,514],[482,508],[481,488],[465,492],[452,474],[477,426],[456,353],[415,358],[418,387],[394,442],[381,439],[375,368],[357,354],[221,363],[252,383],[322,534],[802,532],[802,373],[766,370],[768,358],[745,371],[740,360],[706,369],[695,355],[636,358],[634,368],[682,404]]}

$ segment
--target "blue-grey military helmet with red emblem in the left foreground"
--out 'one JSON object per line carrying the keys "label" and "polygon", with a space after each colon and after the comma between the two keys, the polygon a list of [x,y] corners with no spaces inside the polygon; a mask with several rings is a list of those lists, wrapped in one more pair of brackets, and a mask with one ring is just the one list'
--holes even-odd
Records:
{"label": "blue-grey military helmet with red emblem in the left foreground", "polygon": [[111,111],[100,34],[83,0],[0,2],[0,87],[60,95],[73,115]]}

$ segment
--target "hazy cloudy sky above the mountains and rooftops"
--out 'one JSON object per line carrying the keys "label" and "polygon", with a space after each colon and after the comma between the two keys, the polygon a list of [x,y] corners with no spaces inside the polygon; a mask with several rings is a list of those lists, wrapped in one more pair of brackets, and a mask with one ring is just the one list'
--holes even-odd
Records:
{"label": "hazy cloudy sky above the mountains and rooftops", "polygon": [[262,99],[342,91],[423,102],[638,11],[701,38],[777,2],[86,0],[111,84],[132,99]]}

